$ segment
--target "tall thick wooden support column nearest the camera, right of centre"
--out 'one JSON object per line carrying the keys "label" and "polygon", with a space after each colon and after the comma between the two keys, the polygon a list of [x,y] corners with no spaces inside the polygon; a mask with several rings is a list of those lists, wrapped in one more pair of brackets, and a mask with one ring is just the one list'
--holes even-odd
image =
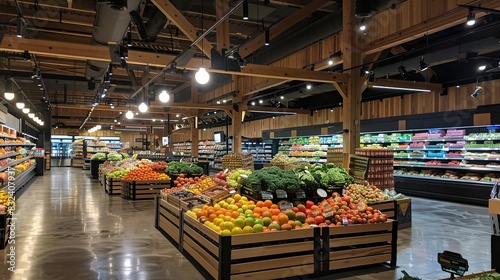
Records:
{"label": "tall thick wooden support column nearest the camera, right of centre", "polygon": [[[360,51],[360,36],[356,32],[357,19],[354,16],[356,10],[355,0],[343,0],[343,32],[342,53],[344,56],[344,69],[350,69],[361,64],[362,53]],[[347,167],[349,154],[359,147],[360,143],[360,119],[361,119],[361,76],[359,69],[354,68],[344,71],[349,75],[347,83],[347,96],[343,101],[343,128],[344,128],[344,166]]]}

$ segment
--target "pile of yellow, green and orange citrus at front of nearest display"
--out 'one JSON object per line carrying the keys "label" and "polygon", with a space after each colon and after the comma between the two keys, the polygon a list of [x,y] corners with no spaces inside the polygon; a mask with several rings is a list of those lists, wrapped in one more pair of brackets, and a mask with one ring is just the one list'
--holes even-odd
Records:
{"label": "pile of yellow, green and orange citrus at front of nearest display", "polygon": [[312,201],[292,209],[280,210],[271,200],[254,202],[235,194],[213,206],[195,207],[186,214],[223,236],[334,227],[362,223],[383,223],[387,215],[350,197],[331,197],[318,205]]}

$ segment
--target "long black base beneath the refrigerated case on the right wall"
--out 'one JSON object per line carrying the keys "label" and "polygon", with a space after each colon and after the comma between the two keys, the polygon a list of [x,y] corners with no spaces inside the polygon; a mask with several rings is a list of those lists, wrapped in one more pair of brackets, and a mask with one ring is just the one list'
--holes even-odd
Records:
{"label": "long black base beneath the refrigerated case on the right wall", "polygon": [[397,192],[480,206],[488,206],[492,186],[473,181],[444,181],[427,178],[394,177]]}

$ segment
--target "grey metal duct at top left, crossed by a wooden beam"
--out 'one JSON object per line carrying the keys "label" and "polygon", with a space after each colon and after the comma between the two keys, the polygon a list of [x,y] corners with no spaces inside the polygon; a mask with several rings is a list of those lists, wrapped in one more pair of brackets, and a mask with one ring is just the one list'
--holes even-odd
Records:
{"label": "grey metal duct at top left, crossed by a wooden beam", "polygon": [[[107,46],[108,42],[121,41],[130,24],[129,12],[137,9],[141,2],[142,0],[128,0],[126,5],[124,1],[97,2],[92,44]],[[109,62],[88,60],[85,78],[100,81],[108,65]]]}

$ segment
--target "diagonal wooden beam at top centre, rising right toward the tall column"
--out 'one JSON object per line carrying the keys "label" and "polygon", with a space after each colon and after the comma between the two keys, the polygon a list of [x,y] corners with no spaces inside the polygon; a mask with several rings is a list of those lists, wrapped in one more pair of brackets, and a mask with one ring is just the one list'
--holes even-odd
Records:
{"label": "diagonal wooden beam at top centre, rising right toward the tall column", "polygon": [[[281,33],[288,30],[290,27],[297,24],[297,22],[310,16],[312,14],[312,12],[316,11],[320,7],[323,7],[328,2],[329,1],[327,1],[327,0],[314,0],[314,1],[310,2],[309,4],[305,5],[303,8],[296,10],[291,15],[289,15],[285,19],[279,21],[277,24],[273,25],[269,29],[269,38],[272,40],[273,38],[277,37]],[[264,33],[261,33],[261,34],[255,36],[248,43],[243,44],[240,47],[239,53],[240,53],[241,57],[247,57],[248,55],[250,55],[254,51],[263,47],[264,43],[265,43],[265,35],[264,35]]]}

